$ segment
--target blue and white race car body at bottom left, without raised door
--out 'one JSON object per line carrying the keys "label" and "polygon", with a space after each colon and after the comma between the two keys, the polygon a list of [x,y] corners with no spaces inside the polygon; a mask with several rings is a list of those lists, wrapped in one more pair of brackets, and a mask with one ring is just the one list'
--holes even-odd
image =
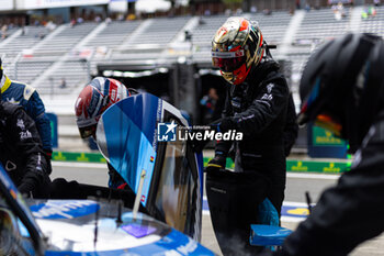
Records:
{"label": "blue and white race car body at bottom left, without raised door", "polygon": [[148,215],[134,218],[131,209],[118,203],[26,203],[1,165],[0,226],[0,255],[214,255]]}

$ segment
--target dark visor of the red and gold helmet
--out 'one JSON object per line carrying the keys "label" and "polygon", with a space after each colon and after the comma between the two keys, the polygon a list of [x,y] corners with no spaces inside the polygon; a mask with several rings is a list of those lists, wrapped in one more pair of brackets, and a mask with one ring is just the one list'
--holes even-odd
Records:
{"label": "dark visor of the red and gold helmet", "polygon": [[244,49],[237,52],[212,52],[212,64],[222,71],[231,73],[246,62]]}

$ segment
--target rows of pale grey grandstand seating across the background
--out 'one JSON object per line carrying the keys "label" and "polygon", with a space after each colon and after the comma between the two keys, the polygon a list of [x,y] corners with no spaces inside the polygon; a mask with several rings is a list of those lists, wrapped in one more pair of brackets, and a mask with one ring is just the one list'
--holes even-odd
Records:
{"label": "rows of pale grey grandstand seating across the background", "polygon": [[[361,7],[346,8],[341,20],[335,19],[331,9],[305,12],[294,34],[287,33],[293,20],[287,11],[275,11],[270,15],[241,15],[258,21],[267,42],[278,45],[274,57],[291,60],[292,73],[300,75],[309,54],[328,38],[348,31],[384,35],[384,8],[376,8],[376,15],[365,20],[352,15],[353,11],[359,13],[362,10]],[[70,94],[89,80],[90,73],[95,70],[99,63],[156,63],[160,58],[173,62],[182,54],[171,54],[169,48],[185,43],[180,35],[187,26],[192,35],[193,60],[208,63],[212,36],[227,18],[221,14],[113,21],[108,24],[91,22],[74,27],[64,24],[54,31],[26,26],[24,34],[21,29],[12,29],[8,32],[8,38],[0,41],[0,53],[5,73],[11,78],[32,84],[42,94],[52,93],[53,87],[55,92]],[[193,19],[197,22],[191,23]],[[282,55],[279,47],[284,42],[290,42],[290,45]],[[58,89],[61,78],[66,79],[67,88]]]}

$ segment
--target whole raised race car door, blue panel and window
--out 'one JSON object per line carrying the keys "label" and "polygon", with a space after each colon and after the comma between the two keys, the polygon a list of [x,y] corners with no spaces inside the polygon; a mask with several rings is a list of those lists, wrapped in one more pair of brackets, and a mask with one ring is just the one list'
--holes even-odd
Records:
{"label": "whole raised race car door, blue panel and window", "polygon": [[[163,125],[172,125],[173,133],[162,137]],[[180,110],[153,94],[139,93],[103,113],[97,138],[100,152],[132,190],[140,193],[151,216],[200,241],[203,160],[190,141],[177,140],[183,129],[189,129],[189,123]]]}

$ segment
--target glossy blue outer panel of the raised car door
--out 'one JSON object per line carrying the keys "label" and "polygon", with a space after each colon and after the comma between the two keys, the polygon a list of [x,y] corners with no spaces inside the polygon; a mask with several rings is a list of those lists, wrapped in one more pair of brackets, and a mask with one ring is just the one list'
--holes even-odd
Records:
{"label": "glossy blue outer panel of the raised car door", "polygon": [[[137,192],[142,170],[146,178],[142,202],[146,205],[156,162],[156,121],[161,100],[143,93],[124,99],[102,115],[110,164]],[[139,148],[139,149],[138,149]]]}

